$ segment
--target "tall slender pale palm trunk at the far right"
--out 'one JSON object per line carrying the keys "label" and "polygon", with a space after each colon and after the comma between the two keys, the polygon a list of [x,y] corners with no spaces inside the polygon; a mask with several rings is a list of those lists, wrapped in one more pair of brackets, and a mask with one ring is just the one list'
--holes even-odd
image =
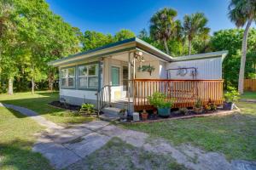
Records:
{"label": "tall slender pale palm trunk at the far right", "polygon": [[242,43],[241,43],[241,63],[240,63],[240,71],[239,71],[239,80],[238,80],[238,92],[243,94],[243,82],[244,82],[244,71],[245,64],[247,59],[247,37],[249,33],[249,28],[253,22],[253,19],[248,20],[247,27],[243,33]]}

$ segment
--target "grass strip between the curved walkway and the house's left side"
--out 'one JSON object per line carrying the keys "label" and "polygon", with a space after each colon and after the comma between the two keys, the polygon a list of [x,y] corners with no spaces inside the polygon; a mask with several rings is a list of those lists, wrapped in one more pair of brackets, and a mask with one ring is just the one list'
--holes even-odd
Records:
{"label": "grass strip between the curved walkway and the house's left side", "polygon": [[14,95],[0,94],[0,102],[19,105],[37,111],[49,121],[65,125],[67,123],[89,122],[93,117],[74,116],[71,111],[65,111],[48,105],[49,102],[59,99],[58,92],[31,92],[15,93]]}

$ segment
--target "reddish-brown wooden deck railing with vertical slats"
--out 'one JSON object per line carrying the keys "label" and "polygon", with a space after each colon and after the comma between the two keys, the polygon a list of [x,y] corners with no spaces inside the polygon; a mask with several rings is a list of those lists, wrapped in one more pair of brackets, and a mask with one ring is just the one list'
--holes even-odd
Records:
{"label": "reddish-brown wooden deck railing with vertical slats", "polygon": [[201,99],[203,105],[209,101],[215,105],[223,102],[223,80],[135,79],[132,86],[136,111],[152,108],[147,98],[154,92],[174,99],[173,108],[192,107],[196,99]]}

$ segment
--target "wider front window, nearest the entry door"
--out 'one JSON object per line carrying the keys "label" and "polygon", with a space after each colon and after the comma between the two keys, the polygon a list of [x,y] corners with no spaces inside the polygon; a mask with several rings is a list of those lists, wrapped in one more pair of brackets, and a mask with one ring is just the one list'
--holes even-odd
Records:
{"label": "wider front window, nearest the entry door", "polygon": [[81,65],[79,66],[79,88],[98,87],[98,66]]}

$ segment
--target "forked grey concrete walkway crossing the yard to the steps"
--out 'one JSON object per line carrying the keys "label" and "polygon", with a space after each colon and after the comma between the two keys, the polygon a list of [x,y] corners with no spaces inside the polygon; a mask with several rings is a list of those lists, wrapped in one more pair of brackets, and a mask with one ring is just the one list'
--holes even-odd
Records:
{"label": "forked grey concrete walkway crossing the yard to the steps", "polygon": [[152,139],[147,133],[123,129],[104,121],[94,121],[63,128],[34,111],[15,105],[2,105],[30,116],[39,124],[49,127],[48,131],[38,135],[33,151],[41,153],[49,159],[56,169],[65,168],[95,150],[107,144],[113,137],[118,137],[128,144],[143,148],[156,154],[172,156],[177,163],[196,170],[253,170],[255,162],[227,161],[224,155],[217,152],[206,152],[194,146],[183,144],[173,146],[165,139]]}

